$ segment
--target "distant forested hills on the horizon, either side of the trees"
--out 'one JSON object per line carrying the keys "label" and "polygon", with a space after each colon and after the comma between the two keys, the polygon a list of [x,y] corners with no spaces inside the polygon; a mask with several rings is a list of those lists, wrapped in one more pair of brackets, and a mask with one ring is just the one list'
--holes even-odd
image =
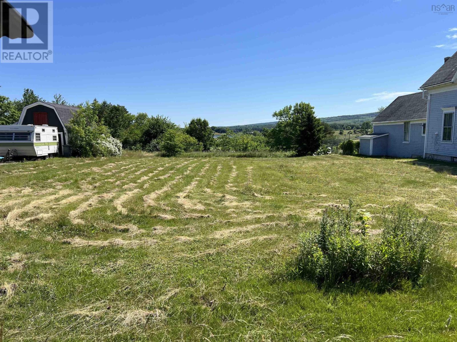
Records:
{"label": "distant forested hills on the horizon, either side of the trees", "polygon": [[[365,113],[365,114],[355,114],[355,115],[340,115],[340,116],[330,116],[328,118],[320,118],[322,121],[328,124],[361,124],[365,121],[373,121],[378,113]],[[260,124],[242,124],[236,126],[212,126],[214,132],[225,133],[227,129],[233,130],[235,133],[242,132],[243,130],[248,130],[250,132],[258,130],[261,131],[264,128],[273,128],[276,126],[277,121],[264,122]]]}

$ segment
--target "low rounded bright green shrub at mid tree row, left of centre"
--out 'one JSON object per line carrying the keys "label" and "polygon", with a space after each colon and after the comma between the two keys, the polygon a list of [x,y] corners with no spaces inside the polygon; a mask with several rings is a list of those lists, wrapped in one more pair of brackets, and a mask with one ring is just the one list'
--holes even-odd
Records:
{"label": "low rounded bright green shrub at mid tree row, left of centre", "polygon": [[180,155],[184,152],[201,151],[203,146],[180,129],[167,130],[161,137],[160,151],[166,156]]}

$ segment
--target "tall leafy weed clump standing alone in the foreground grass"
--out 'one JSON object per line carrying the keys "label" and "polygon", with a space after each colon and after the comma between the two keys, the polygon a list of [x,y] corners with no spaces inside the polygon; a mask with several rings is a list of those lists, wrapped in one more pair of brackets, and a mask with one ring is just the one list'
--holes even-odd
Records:
{"label": "tall leafy weed clump standing alone in the foreground grass", "polygon": [[300,236],[296,260],[299,277],[324,287],[359,285],[375,290],[399,287],[403,281],[423,285],[441,260],[441,228],[399,206],[384,212],[371,231],[370,213],[333,207],[320,230]]}

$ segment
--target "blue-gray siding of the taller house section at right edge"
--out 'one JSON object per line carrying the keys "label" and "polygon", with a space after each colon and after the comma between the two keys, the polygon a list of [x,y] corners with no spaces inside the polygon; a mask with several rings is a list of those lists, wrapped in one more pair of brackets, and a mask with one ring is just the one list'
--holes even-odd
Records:
{"label": "blue-gray siding of the taller house section at right edge", "polygon": [[[457,156],[457,130],[454,115],[454,135],[452,143],[442,143],[443,110],[441,108],[457,106],[457,90],[444,93],[430,94],[430,113],[427,129],[426,155],[437,159],[452,160]],[[442,157],[440,157],[442,156]]]}

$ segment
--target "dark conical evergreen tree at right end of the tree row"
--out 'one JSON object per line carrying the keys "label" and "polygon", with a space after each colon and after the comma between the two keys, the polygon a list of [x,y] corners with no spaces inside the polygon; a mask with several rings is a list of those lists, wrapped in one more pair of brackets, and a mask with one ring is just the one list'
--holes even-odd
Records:
{"label": "dark conical evergreen tree at right end of the tree row", "polygon": [[293,114],[298,116],[297,155],[312,155],[324,138],[324,127],[314,114],[314,107],[309,103],[295,104]]}

